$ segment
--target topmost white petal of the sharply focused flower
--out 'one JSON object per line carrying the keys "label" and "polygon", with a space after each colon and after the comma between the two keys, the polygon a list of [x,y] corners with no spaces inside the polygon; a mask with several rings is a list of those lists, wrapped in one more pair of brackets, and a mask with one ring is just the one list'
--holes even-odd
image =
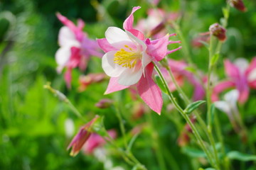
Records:
{"label": "topmost white petal of the sharply focused flower", "polygon": [[[129,39],[127,33],[125,33],[124,30],[117,27],[107,28],[105,32],[105,37],[107,38],[107,41],[110,42],[110,44],[114,47],[122,41],[132,42]],[[119,47],[117,47],[117,49],[119,49]]]}

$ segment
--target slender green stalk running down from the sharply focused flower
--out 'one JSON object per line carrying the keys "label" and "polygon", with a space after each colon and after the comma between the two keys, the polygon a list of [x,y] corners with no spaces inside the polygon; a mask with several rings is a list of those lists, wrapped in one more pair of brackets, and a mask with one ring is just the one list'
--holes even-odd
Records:
{"label": "slender green stalk running down from the sharply focused flower", "polygon": [[[153,62],[154,63],[154,62]],[[193,125],[193,123],[191,122],[190,118],[188,117],[188,115],[186,115],[186,113],[184,113],[183,109],[181,108],[181,106],[178,105],[178,103],[176,102],[174,96],[171,94],[171,91],[169,90],[169,87],[166,83],[166,80],[164,79],[163,74],[161,74],[161,71],[159,69],[159,67],[157,67],[157,65],[154,63],[154,67],[156,69],[156,72],[159,74],[159,77],[161,78],[161,80],[164,83],[164,87],[168,93],[169,99],[171,100],[171,102],[174,104],[175,108],[178,110],[179,113],[181,113],[181,115],[183,116],[183,118],[186,120],[186,122],[188,123],[188,125],[191,127],[193,134],[196,137],[196,140],[198,140],[198,144],[201,146],[201,148],[203,149],[203,152],[206,153],[206,157],[208,158],[210,164],[212,166],[214,166],[215,168],[219,169],[218,165],[214,164],[213,162],[213,158],[210,155],[210,152],[208,152],[208,149],[206,148],[205,143],[203,142],[201,136],[199,135],[198,130],[196,129],[196,127]]]}

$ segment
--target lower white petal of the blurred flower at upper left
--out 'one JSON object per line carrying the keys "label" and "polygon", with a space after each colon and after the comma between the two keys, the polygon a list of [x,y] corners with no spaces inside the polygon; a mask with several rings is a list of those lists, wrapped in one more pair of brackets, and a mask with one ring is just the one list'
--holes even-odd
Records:
{"label": "lower white petal of the blurred flower at upper left", "polygon": [[64,67],[70,59],[70,47],[60,47],[55,53],[55,60],[60,67]]}

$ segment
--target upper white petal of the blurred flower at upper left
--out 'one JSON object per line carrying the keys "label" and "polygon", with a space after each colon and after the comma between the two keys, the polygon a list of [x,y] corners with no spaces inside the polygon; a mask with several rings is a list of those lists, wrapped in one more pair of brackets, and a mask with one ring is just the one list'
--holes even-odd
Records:
{"label": "upper white petal of the blurred flower at upper left", "polygon": [[80,42],[76,40],[75,34],[70,30],[70,28],[63,26],[60,28],[60,32],[58,34],[58,42],[60,47],[62,46],[73,46],[80,47]]}

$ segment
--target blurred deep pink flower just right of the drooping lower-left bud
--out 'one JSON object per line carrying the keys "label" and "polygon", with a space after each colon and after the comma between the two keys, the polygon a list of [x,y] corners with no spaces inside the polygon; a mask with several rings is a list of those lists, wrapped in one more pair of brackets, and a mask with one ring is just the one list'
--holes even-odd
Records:
{"label": "blurred deep pink flower just right of the drooping lower-left bud", "polygon": [[[107,130],[107,132],[113,139],[117,137],[117,132],[115,130]],[[85,154],[92,154],[94,149],[97,147],[102,147],[102,145],[105,145],[105,143],[106,142],[103,137],[97,135],[96,133],[92,133],[83,147],[84,152]]]}

